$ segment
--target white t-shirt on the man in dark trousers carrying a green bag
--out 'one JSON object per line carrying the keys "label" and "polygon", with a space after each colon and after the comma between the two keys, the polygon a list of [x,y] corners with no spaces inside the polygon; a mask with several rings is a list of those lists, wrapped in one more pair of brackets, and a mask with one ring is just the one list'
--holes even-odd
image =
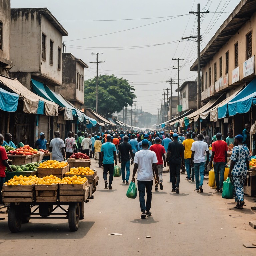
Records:
{"label": "white t-shirt on the man in dark trousers carrying a green bag", "polygon": [[157,163],[156,153],[148,149],[142,149],[135,153],[134,163],[138,164],[137,180],[151,181],[154,179],[152,164]]}

